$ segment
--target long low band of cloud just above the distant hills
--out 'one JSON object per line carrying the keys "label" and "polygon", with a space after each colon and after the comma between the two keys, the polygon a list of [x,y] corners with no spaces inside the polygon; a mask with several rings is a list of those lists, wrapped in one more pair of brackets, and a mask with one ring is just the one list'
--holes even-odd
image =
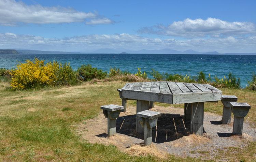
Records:
{"label": "long low band of cloud just above the distant hills", "polygon": [[176,50],[193,49],[198,51],[255,53],[256,36],[209,39],[161,39],[147,38],[133,34],[93,34],[73,36],[61,39],[49,39],[34,35],[19,35],[15,33],[0,33],[0,49],[41,49],[60,51],[90,52],[100,48],[119,48],[127,50],[163,49]]}

